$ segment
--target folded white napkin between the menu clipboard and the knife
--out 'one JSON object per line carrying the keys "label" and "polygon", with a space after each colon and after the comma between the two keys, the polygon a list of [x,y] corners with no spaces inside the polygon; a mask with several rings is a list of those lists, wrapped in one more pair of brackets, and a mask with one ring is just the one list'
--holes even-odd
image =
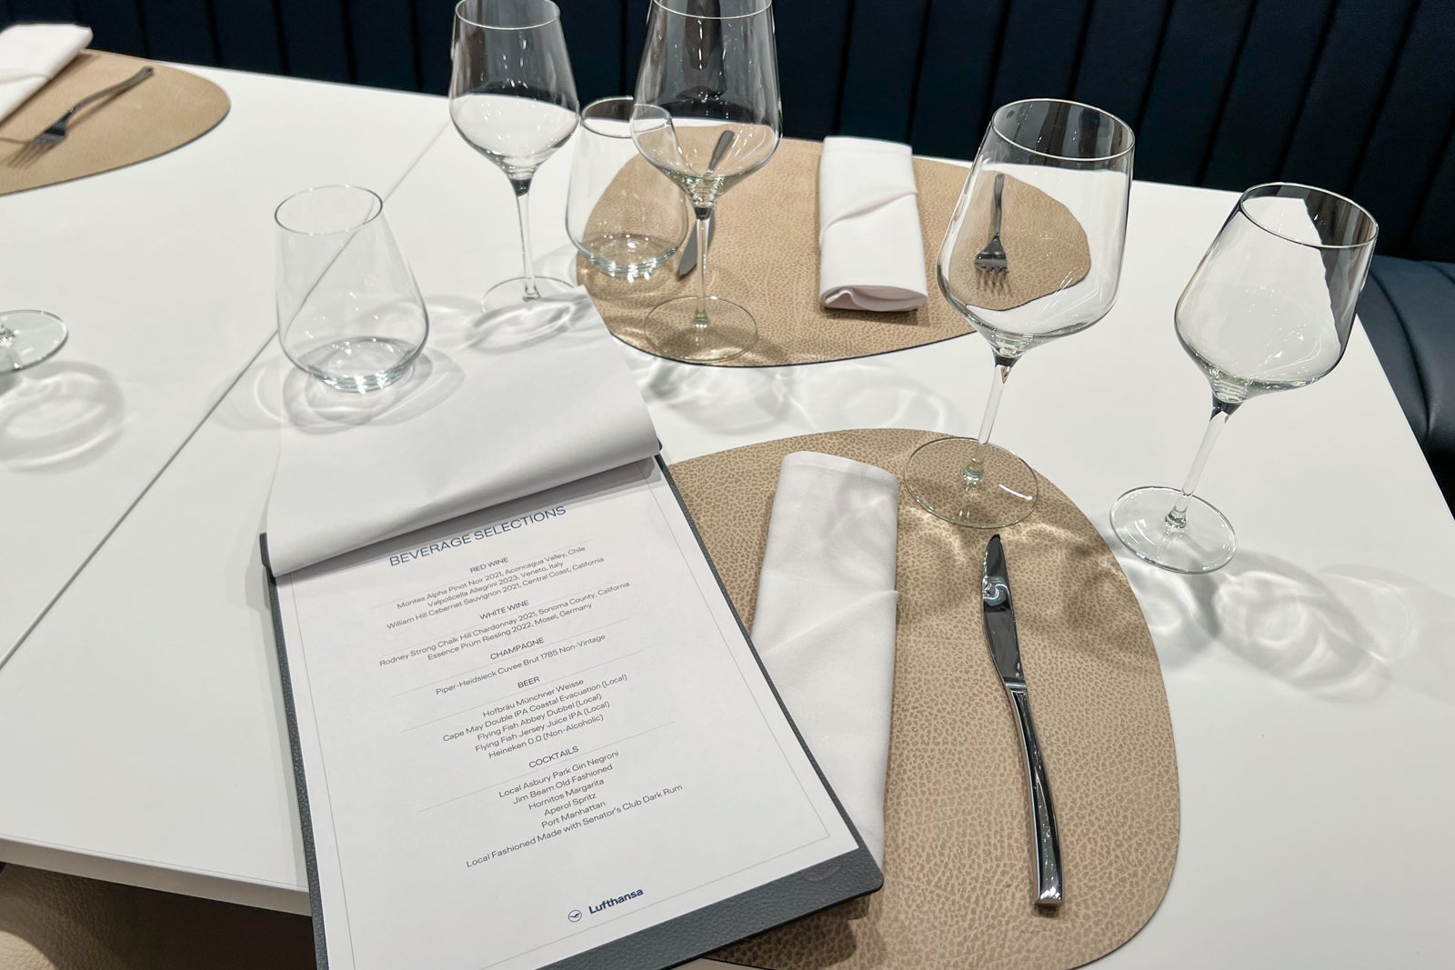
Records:
{"label": "folded white napkin between the menu clipboard and the knife", "polygon": [[752,641],[874,859],[895,694],[899,481],[799,451],[783,460]]}

